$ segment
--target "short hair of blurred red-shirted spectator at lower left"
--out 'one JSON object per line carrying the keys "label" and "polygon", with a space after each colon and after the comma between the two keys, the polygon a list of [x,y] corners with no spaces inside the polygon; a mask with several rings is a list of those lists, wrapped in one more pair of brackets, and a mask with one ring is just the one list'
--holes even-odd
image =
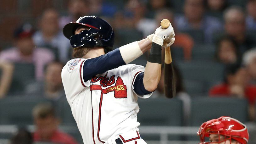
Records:
{"label": "short hair of blurred red-shirted spectator at lower left", "polygon": [[50,103],[41,103],[33,108],[34,119],[45,119],[48,116],[56,117],[55,109]]}

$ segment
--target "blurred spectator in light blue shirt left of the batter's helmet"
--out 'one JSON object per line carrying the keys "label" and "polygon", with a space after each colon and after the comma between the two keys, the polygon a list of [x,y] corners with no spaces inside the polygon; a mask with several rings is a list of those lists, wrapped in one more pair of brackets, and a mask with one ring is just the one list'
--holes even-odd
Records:
{"label": "blurred spectator in light blue shirt left of the batter's helmet", "polygon": [[55,9],[45,10],[38,23],[40,30],[33,36],[36,46],[57,49],[58,58],[66,62],[71,45],[59,28],[58,12]]}

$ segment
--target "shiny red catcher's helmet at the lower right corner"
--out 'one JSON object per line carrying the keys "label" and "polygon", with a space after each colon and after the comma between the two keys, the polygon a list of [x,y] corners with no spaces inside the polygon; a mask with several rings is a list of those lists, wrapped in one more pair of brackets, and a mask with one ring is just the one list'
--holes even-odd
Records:
{"label": "shiny red catcher's helmet at the lower right corner", "polygon": [[218,134],[219,139],[220,135],[223,135],[225,136],[225,140],[223,141],[231,141],[231,139],[233,139],[240,142],[241,144],[247,144],[249,139],[249,134],[246,125],[244,125],[237,119],[227,116],[222,116],[218,119],[212,119],[207,122],[204,122],[197,132],[197,135],[200,136],[199,144],[213,143],[205,142],[205,137],[209,137],[210,134]]}

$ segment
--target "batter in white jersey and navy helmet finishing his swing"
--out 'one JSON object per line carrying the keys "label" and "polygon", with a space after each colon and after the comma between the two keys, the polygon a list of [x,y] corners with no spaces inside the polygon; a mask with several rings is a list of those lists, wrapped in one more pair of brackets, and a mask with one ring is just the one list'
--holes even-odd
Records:
{"label": "batter in white jersey and navy helmet finishing his swing", "polygon": [[[74,47],[62,69],[65,94],[86,144],[146,143],[139,134],[137,97],[148,98],[161,75],[161,48],[173,44],[174,30],[159,27],[141,41],[111,51],[114,31],[105,20],[83,16],[64,26]],[[128,64],[147,50],[146,68]]]}

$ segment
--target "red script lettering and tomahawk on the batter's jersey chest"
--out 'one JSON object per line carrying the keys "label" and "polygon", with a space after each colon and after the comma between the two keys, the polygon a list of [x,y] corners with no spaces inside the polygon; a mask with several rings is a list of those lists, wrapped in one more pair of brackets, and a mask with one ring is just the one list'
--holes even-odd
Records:
{"label": "red script lettering and tomahawk on the batter's jersey chest", "polygon": [[[110,87],[101,89],[101,86],[99,86],[99,85],[91,85],[90,90],[102,90],[103,94],[107,94],[109,92],[114,91],[115,98],[126,98],[127,97],[127,89],[126,89],[126,86],[120,76],[117,77],[117,80],[115,80],[115,75],[112,75],[110,78],[107,78],[107,74],[104,77],[103,76],[100,76],[100,77],[94,76],[92,78],[91,82],[97,82],[97,81],[99,81],[100,85],[103,87],[107,87],[107,86],[110,86]],[[115,85],[111,86],[114,83],[115,83]]]}

